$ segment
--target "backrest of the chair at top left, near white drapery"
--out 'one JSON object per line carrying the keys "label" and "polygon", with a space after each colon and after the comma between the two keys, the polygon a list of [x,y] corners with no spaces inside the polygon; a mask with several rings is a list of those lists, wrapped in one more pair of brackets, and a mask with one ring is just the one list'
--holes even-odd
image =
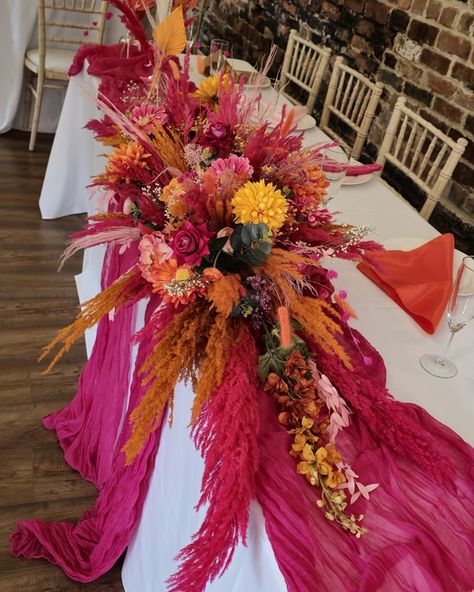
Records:
{"label": "backrest of the chair at top left, near white drapery", "polygon": [[102,43],[106,0],[38,0],[40,54],[48,45]]}

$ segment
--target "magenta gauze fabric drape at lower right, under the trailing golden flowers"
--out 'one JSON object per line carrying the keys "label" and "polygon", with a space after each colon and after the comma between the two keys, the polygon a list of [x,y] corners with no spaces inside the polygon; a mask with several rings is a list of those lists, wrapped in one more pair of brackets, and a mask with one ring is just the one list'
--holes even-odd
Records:
{"label": "magenta gauze fabric drape at lower right, under the trailing golden flowers", "polygon": [[[361,345],[373,348],[359,336]],[[320,370],[334,380],[323,360]],[[372,380],[385,384],[380,356]],[[357,369],[359,372],[364,370]],[[365,369],[365,374],[370,373]],[[313,487],[295,471],[290,439],[279,425],[274,402],[260,404],[260,467],[257,499],[289,592],[469,592],[474,588],[474,454],[446,426],[416,405],[402,405],[418,432],[434,437],[454,467],[454,477],[437,482],[394,453],[357,414],[338,436],[338,448],[362,483],[380,483],[353,506],[364,514],[361,539],[325,519]],[[436,460],[436,459],[435,459]],[[442,462],[442,459],[439,459]],[[275,470],[278,467],[278,470]],[[443,467],[441,466],[442,470]]]}

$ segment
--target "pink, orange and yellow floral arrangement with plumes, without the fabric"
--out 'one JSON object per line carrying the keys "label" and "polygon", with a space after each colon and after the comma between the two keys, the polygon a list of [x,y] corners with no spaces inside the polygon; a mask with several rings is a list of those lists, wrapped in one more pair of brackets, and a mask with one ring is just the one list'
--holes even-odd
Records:
{"label": "pink, orange and yellow floral arrangement with plumes, without the fabric", "polygon": [[[377,487],[360,483],[344,458],[338,438],[352,409],[319,357],[348,375],[371,364],[349,327],[347,295],[335,292],[335,272],[322,259],[360,259],[380,247],[324,207],[321,146],[302,148],[294,110],[283,109],[271,128],[255,120],[258,90],[244,93],[228,73],[191,82],[189,54],[182,65],[175,57],[184,26],[177,8],[155,29],[152,75],[120,103],[99,98],[104,118],[89,127],[112,151],[93,185],[108,207],[71,237],[63,262],[108,244],[134,250],[136,263],[85,303],[43,354],[59,347],[51,368],[104,315],[157,299],[135,336],[147,348],[140,369],[147,391],[123,452],[133,463],[167,407],[172,421],[176,383],[190,380],[192,430],[206,466],[201,504],[209,508],[170,579],[176,591],[203,589],[245,541],[258,397],[274,399],[295,470],[328,520],[359,538],[363,516],[351,503]],[[229,409],[234,420],[224,434]],[[225,513],[217,509],[223,498]]]}

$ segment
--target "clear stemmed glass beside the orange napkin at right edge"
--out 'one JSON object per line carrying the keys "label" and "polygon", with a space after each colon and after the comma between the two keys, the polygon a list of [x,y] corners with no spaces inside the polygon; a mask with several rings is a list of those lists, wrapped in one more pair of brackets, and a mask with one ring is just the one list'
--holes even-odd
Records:
{"label": "clear stemmed glass beside the orange napkin at right edge", "polygon": [[427,354],[420,358],[421,367],[433,376],[452,378],[458,370],[446,357],[455,333],[474,318],[474,256],[464,257],[449,297],[448,326],[451,331],[443,355]]}

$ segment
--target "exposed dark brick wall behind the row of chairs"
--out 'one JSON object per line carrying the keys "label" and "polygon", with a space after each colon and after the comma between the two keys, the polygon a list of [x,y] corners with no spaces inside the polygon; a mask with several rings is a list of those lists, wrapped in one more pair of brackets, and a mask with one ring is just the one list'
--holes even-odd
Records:
{"label": "exposed dark brick wall behind the row of chairs", "polygon": [[234,55],[253,63],[275,43],[276,73],[292,28],[385,84],[366,157],[401,94],[449,136],[469,140],[449,201],[474,217],[474,0],[210,0],[202,34],[231,40]]}

